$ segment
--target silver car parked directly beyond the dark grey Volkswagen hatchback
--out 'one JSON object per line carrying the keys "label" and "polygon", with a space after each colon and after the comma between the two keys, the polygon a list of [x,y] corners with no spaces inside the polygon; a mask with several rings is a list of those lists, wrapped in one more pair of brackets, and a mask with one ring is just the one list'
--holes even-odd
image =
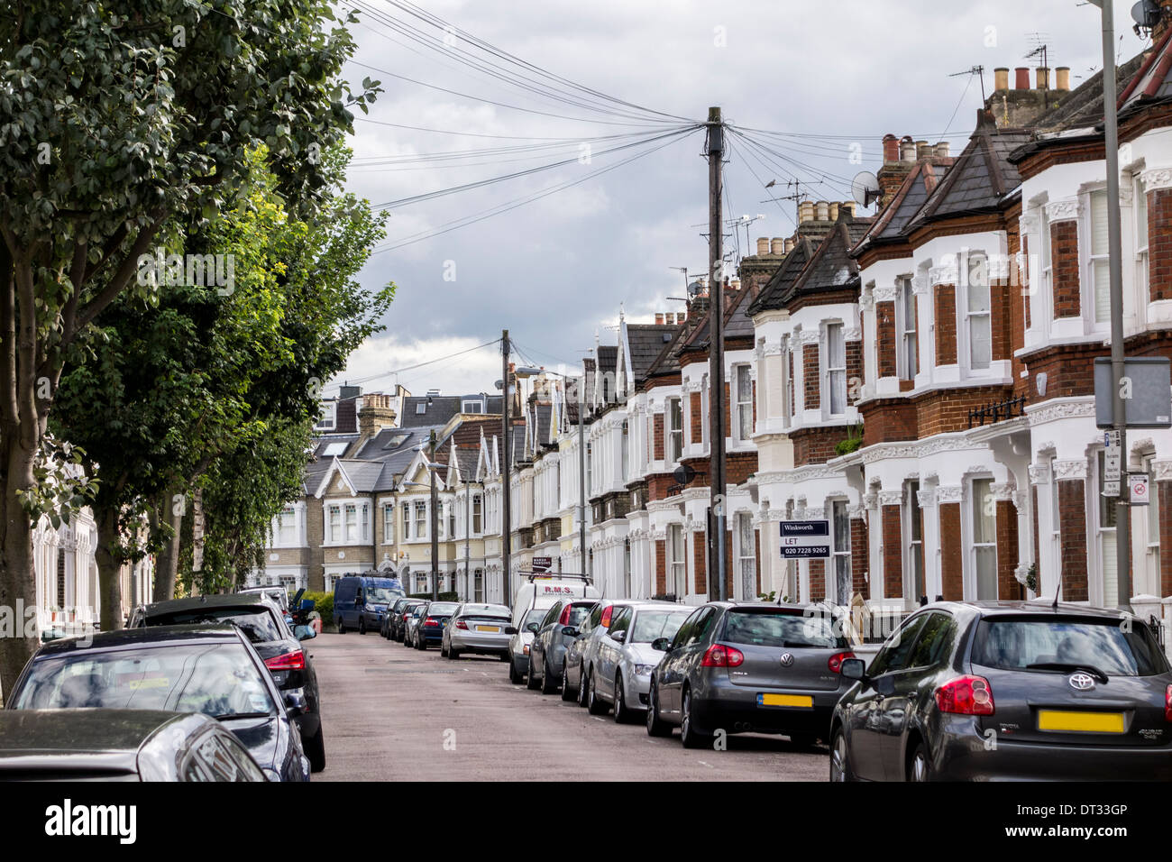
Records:
{"label": "silver car parked directly beyond the dark grey Volkswagen hatchback", "polygon": [[[656,638],[673,638],[693,609],[666,605],[629,605],[614,612],[605,636],[598,636],[594,671],[587,706],[591,712],[614,707],[614,720],[624,724],[634,711],[647,708],[652,673],[663,658],[652,649]],[[601,701],[598,706],[593,706]]]}

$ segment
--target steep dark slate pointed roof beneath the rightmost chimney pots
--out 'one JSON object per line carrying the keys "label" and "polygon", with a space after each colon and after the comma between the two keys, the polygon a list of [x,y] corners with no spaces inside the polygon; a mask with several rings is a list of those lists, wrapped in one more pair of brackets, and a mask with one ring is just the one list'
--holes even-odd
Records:
{"label": "steep dark slate pointed roof beneath the rightmost chimney pots", "polygon": [[999,129],[988,111],[979,110],[968,144],[905,230],[911,232],[940,219],[1000,210],[1002,198],[1021,185],[1009,154],[1029,141],[1031,134],[1026,129]]}

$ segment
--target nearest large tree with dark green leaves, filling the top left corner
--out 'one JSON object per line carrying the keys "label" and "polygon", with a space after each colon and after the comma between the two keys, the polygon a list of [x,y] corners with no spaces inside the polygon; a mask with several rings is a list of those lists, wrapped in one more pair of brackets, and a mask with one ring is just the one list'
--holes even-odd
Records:
{"label": "nearest large tree with dark green leaves, filling the top left corner", "polygon": [[[341,75],[353,40],[328,0],[14,0],[0,16],[0,604],[35,595],[22,498],[66,352],[179,217],[209,218],[268,148],[309,208],[320,154],[377,86]],[[170,249],[168,251],[171,251]],[[35,638],[0,639],[0,686]]]}

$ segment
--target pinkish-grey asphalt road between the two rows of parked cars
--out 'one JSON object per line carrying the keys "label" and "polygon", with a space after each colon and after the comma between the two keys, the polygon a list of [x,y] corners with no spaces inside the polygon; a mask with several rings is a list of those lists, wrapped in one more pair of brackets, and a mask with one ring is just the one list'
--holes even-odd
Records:
{"label": "pinkish-grey asphalt road between the two rows of parked cars", "polygon": [[509,681],[505,663],[450,661],[379,637],[323,633],[318,670],[326,771],[315,781],[631,780],[825,781],[825,747],[732,735],[727,751],[688,751],[679,733],[647,735],[558,694]]}

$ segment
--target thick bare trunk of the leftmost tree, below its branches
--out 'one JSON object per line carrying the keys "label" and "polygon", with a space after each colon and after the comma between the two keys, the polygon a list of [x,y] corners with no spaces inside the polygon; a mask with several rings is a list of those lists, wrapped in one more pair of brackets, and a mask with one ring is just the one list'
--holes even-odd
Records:
{"label": "thick bare trunk of the leftmost tree, below its branches", "polygon": [[[12,688],[36,651],[36,572],[33,565],[33,524],[16,498],[16,489],[32,488],[33,453],[15,436],[2,442],[0,464],[0,694]],[[7,617],[7,619],[5,619]],[[9,629],[11,626],[11,629]]]}

